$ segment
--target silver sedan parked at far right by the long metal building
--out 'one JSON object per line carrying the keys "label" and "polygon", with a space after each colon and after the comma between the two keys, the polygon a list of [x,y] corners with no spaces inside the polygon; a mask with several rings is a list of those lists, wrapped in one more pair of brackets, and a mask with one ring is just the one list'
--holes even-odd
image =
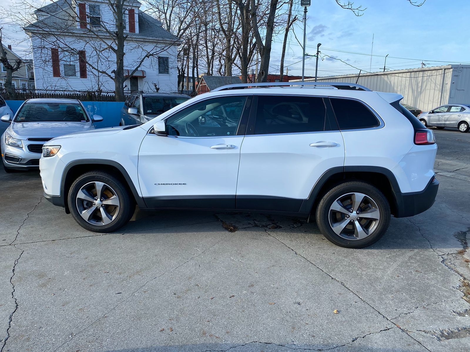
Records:
{"label": "silver sedan parked at far right by the long metal building", "polygon": [[426,127],[437,127],[440,130],[446,127],[453,127],[458,128],[461,132],[468,132],[470,126],[470,105],[441,105],[427,113],[422,113],[418,116],[418,119]]}

